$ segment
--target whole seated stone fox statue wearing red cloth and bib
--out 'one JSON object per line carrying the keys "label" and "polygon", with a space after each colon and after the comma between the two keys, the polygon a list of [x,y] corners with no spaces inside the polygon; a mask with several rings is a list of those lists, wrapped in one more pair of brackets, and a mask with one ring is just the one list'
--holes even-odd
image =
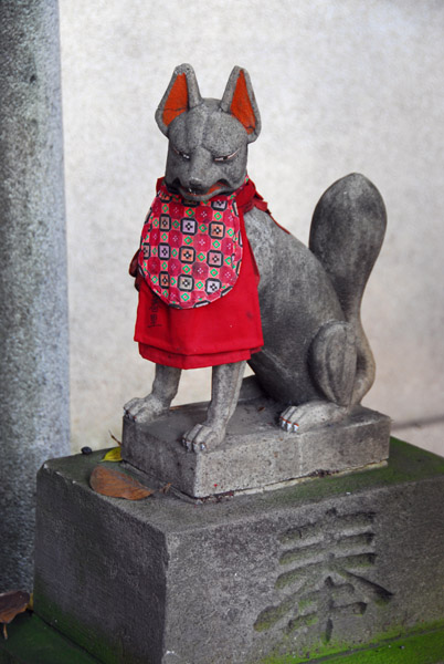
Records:
{"label": "whole seated stone fox statue wearing red cloth and bib", "polygon": [[193,69],[178,66],[156,121],[169,139],[167,169],[131,263],[136,341],[156,377],[148,396],[125,405],[126,416],[157,418],[182,369],[213,366],[207,419],[182,440],[190,450],[212,448],[249,362],[283,404],[285,430],[340,421],[374,378],[360,303],[385,230],[379,191],[348,175],[320,198],[309,248],[284,230],[246,175],[261,118],[239,66],[221,101],[202,98]]}

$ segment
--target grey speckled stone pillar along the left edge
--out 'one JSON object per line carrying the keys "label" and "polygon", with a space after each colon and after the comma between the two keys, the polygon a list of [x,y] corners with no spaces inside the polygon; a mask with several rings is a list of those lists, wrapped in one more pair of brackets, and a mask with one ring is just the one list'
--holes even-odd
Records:
{"label": "grey speckled stone pillar along the left edge", "polygon": [[0,591],[32,587],[35,473],[68,454],[56,0],[0,3]]}

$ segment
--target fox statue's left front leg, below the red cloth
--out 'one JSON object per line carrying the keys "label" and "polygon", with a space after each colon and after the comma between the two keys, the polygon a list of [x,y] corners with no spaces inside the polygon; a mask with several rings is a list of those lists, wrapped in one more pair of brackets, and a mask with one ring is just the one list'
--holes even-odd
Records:
{"label": "fox statue's left front leg, below the red cloth", "polygon": [[127,402],[124,406],[126,417],[138,424],[146,424],[166,413],[177,395],[180,374],[180,369],[156,364],[156,376],[150,394]]}

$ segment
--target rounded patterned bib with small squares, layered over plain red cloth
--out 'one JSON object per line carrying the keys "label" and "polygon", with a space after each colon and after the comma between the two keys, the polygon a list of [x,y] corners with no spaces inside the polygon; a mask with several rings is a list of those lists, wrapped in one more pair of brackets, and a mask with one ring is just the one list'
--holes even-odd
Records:
{"label": "rounded patterned bib with small squares, layered over plain red cloth", "polygon": [[158,186],[141,232],[138,267],[169,307],[204,307],[237,281],[243,247],[236,195],[244,185],[195,204],[171,194],[162,181]]}

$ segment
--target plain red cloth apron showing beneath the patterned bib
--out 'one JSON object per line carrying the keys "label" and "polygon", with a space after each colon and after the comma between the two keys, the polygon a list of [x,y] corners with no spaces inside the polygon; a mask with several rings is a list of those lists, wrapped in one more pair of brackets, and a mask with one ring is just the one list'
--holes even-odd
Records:
{"label": "plain red cloth apron showing beneath the patterned bib", "polygon": [[261,350],[260,276],[245,232],[244,212],[266,204],[251,180],[236,193],[243,240],[243,259],[237,281],[224,297],[201,308],[169,307],[139,281],[135,341],[142,357],[179,369],[215,366],[249,360]]}

